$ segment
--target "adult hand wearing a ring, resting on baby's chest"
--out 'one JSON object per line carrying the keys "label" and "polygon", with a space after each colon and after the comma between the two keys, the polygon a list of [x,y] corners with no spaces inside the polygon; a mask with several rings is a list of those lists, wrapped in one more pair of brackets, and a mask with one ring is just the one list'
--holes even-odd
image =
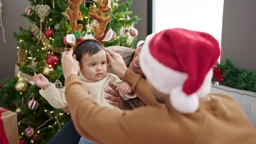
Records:
{"label": "adult hand wearing a ring, resting on baby's chest", "polygon": [[[116,87],[111,83],[109,83],[109,86],[112,89],[116,89]],[[108,94],[113,95],[113,96],[105,96],[107,100],[110,100],[109,104],[112,104],[113,106],[117,106],[123,110],[132,109],[132,107],[130,107],[129,104],[127,104],[126,101],[123,100],[123,98],[120,96],[118,91],[109,90],[109,89],[104,89],[104,91]]]}

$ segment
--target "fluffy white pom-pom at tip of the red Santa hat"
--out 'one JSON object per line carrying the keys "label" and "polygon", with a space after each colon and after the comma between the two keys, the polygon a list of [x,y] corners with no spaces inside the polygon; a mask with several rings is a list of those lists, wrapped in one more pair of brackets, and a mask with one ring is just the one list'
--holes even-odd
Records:
{"label": "fluffy white pom-pom at tip of the red Santa hat", "polygon": [[180,113],[194,113],[199,107],[197,94],[186,95],[181,86],[172,89],[170,101],[174,109]]}

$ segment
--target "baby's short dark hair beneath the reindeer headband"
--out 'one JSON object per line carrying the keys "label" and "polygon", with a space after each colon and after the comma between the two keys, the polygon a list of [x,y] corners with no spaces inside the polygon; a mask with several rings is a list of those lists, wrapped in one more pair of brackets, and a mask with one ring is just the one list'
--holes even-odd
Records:
{"label": "baby's short dark hair beneath the reindeer headband", "polygon": [[89,56],[91,56],[103,49],[105,49],[105,47],[97,40],[82,41],[82,43],[78,44],[75,50],[76,60],[80,62],[82,56],[84,56],[86,53],[89,53]]}

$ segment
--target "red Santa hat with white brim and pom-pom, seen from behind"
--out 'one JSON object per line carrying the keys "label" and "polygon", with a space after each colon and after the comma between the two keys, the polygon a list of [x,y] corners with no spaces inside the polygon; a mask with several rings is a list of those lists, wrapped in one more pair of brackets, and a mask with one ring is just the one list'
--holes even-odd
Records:
{"label": "red Santa hat with white brim and pom-pom, seen from behind", "polygon": [[151,85],[169,94],[175,110],[194,113],[199,99],[210,92],[212,67],[219,55],[219,43],[212,35],[176,28],[147,37],[139,63]]}

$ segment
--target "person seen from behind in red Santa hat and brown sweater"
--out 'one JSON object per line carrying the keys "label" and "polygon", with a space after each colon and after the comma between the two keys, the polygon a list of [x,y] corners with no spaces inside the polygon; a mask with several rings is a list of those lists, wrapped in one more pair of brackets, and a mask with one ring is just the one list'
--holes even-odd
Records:
{"label": "person seen from behind in red Santa hat and brown sweater", "polygon": [[[66,99],[76,130],[96,143],[256,143],[239,104],[209,93],[220,55],[212,35],[166,29],[145,40],[139,63],[151,91],[165,107],[115,110],[94,103],[78,79],[73,49],[62,53]],[[139,79],[133,79],[134,83]],[[135,91],[136,92],[136,91]],[[138,95],[138,94],[137,94]]]}

